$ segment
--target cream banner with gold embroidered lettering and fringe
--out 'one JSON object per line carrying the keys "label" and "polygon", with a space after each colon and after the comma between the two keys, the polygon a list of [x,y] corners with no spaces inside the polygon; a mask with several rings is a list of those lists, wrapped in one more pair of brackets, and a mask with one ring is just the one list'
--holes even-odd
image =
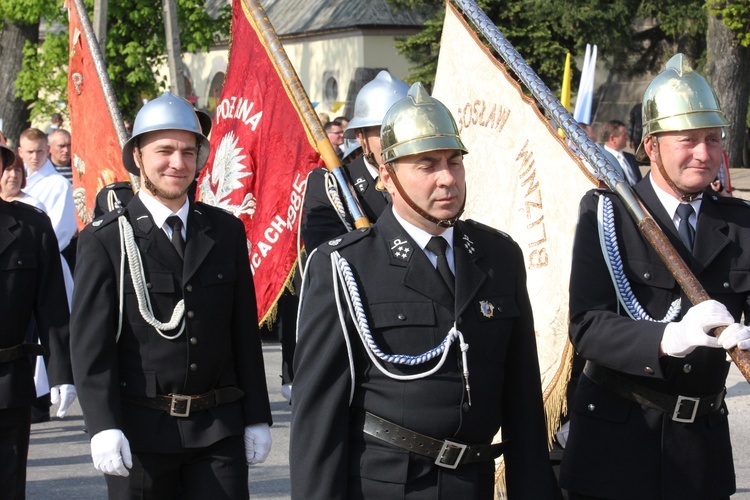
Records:
{"label": "cream banner with gold embroidered lettering and fringe", "polygon": [[523,249],[552,435],[570,373],[573,233],[594,180],[450,2],[433,95],[453,113],[469,150],[464,217],[507,232]]}

